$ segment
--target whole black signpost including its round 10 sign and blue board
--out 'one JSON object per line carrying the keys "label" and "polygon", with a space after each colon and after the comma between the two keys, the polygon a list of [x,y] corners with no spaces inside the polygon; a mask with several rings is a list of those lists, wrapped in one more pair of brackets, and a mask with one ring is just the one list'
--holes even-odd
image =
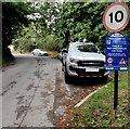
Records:
{"label": "whole black signpost including its round 10 sign and blue board", "polygon": [[[129,23],[130,20],[130,11],[127,4],[116,1],[114,3],[112,3],[110,5],[108,5],[104,12],[103,15],[103,24],[106,28],[106,30],[108,30],[109,33],[118,33],[120,30],[122,30]],[[114,51],[110,51],[112,53],[109,53],[108,49],[106,49],[106,70],[114,70],[115,72],[115,85],[114,85],[114,109],[117,109],[117,105],[118,105],[118,70],[120,69],[125,69],[128,70],[128,68],[126,67],[120,67],[120,66],[126,66],[128,64],[128,47],[127,47],[127,37],[121,36],[122,38],[120,38],[118,35],[113,35],[114,37],[106,37],[106,48],[109,47],[108,49],[112,49]],[[122,44],[120,44],[122,42]],[[126,46],[123,46],[123,43],[126,43]],[[115,44],[115,46],[113,46]],[[115,47],[115,48],[113,48]],[[127,48],[125,48],[127,47]],[[122,48],[122,50],[120,50]],[[125,53],[125,49],[127,50],[127,52]],[[121,51],[120,53],[117,51]],[[117,57],[115,57],[115,55],[118,55]],[[122,56],[125,55],[125,56]],[[122,59],[122,61],[120,59]],[[112,63],[107,63],[108,59],[113,59]],[[120,61],[116,61],[117,59],[119,59]],[[122,64],[122,65],[119,65]],[[127,66],[128,67],[128,66]]]}

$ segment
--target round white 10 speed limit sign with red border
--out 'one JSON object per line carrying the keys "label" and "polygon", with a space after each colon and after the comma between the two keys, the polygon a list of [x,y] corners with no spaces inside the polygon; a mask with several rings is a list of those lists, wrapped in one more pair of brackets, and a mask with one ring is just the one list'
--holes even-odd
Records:
{"label": "round white 10 speed limit sign with red border", "polygon": [[110,33],[122,30],[129,23],[129,8],[122,2],[112,3],[103,15],[103,24]]}

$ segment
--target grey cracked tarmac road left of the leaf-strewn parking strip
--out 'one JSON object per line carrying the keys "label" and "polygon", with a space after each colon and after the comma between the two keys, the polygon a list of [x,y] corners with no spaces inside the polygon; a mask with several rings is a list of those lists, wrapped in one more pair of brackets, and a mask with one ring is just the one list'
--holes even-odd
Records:
{"label": "grey cracked tarmac road left of the leaf-strewn parking strip", "polygon": [[15,55],[2,69],[2,127],[53,127],[55,72],[51,57]]}

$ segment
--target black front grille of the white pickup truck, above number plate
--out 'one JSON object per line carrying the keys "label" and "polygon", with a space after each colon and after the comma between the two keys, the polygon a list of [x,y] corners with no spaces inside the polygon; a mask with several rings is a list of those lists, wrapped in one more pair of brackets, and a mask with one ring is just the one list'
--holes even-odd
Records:
{"label": "black front grille of the white pickup truck, above number plate", "polygon": [[104,66],[103,61],[78,61],[77,64],[78,66]]}

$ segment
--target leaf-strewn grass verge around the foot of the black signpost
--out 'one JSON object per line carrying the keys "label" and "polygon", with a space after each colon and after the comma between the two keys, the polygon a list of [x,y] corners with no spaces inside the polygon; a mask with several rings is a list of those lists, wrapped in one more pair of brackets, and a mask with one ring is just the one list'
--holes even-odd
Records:
{"label": "leaf-strewn grass verge around the foot of the black signpost", "polygon": [[[114,77],[114,73],[110,73]],[[72,127],[126,127],[129,122],[128,72],[119,73],[118,107],[114,109],[114,81],[73,111]],[[127,126],[128,127],[128,126]]]}

